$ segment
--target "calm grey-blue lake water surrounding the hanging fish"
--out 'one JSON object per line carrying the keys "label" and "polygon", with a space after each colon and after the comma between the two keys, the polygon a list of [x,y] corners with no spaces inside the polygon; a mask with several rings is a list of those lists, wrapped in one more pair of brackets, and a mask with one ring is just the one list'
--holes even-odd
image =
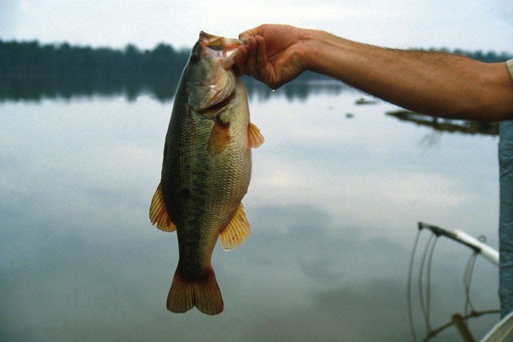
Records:
{"label": "calm grey-blue lake water surrounding the hanging fish", "polygon": [[[498,248],[498,137],[403,122],[385,115],[392,105],[356,105],[362,96],[332,85],[301,96],[251,92],[252,122],[266,138],[253,150],[243,200],[252,235],[234,251],[214,250],[225,302],[214,317],[165,307],[176,235],[152,227],[148,208],[172,100],[0,102],[0,339],[411,340],[406,291],[417,223],[483,234]],[[413,274],[419,340],[428,237]],[[469,255],[439,239],[432,329],[464,312]],[[476,310],[498,309],[497,291],[498,269],[478,257]],[[473,318],[469,328],[479,339],[498,319]],[[451,327],[432,340],[459,335]]]}

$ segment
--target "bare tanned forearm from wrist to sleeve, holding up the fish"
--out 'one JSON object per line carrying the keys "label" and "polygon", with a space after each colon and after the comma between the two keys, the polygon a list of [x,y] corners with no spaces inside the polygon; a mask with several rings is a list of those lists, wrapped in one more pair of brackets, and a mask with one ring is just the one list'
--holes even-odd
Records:
{"label": "bare tanned forearm from wrist to sleeve, holding up the fish", "polygon": [[485,121],[513,118],[513,81],[505,63],[386,49],[324,31],[305,32],[306,69],[425,114]]}

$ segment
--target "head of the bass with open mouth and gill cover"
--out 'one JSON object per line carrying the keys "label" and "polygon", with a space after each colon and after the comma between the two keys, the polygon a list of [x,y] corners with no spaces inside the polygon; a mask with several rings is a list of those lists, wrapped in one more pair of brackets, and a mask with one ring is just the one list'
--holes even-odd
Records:
{"label": "head of the bass with open mouth and gill cover", "polygon": [[187,102],[194,111],[204,112],[223,103],[233,94],[233,58],[237,47],[242,44],[244,42],[239,39],[200,32],[200,38],[192,48],[186,66],[185,91]]}

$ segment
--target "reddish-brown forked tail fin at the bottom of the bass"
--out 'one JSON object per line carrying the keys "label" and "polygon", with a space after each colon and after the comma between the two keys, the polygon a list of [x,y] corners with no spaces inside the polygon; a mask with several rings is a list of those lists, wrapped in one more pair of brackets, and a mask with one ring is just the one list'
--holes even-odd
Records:
{"label": "reddish-brown forked tail fin at the bottom of the bass", "polygon": [[224,308],[223,297],[212,267],[201,280],[193,281],[184,279],[179,267],[174,272],[173,283],[167,296],[167,309],[183,313],[196,307],[211,316],[221,313]]}

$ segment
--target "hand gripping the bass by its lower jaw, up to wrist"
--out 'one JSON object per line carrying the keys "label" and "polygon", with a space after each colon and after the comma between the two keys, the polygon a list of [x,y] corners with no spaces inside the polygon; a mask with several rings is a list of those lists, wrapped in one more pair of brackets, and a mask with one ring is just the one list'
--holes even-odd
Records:
{"label": "hand gripping the bass by its lower jaw, up to wrist", "polygon": [[289,25],[264,24],[245,31],[234,58],[235,72],[253,76],[271,89],[292,81],[306,70],[304,42],[307,30]]}

